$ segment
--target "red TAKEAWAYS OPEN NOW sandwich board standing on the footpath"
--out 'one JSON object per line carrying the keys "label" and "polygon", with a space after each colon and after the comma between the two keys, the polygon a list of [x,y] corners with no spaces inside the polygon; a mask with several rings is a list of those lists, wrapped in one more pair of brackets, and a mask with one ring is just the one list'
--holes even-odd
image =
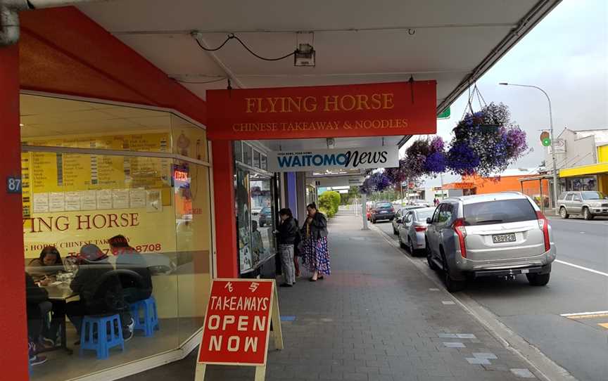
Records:
{"label": "red TAKEAWAYS OPEN NOW sandwich board standing on the footpath", "polygon": [[270,322],[274,346],[283,349],[277,286],[272,279],[214,279],[198,347],[195,381],[206,366],[255,366],[255,381],[266,375]]}

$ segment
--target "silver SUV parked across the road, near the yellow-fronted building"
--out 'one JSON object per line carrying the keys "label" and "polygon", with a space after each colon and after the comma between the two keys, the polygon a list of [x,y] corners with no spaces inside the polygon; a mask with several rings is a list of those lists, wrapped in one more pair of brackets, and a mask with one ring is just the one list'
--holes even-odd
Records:
{"label": "silver SUV parked across the road, near the yellow-fronted building", "polygon": [[567,219],[570,214],[581,214],[590,220],[595,216],[608,216],[608,196],[602,192],[564,192],[557,200],[559,216]]}

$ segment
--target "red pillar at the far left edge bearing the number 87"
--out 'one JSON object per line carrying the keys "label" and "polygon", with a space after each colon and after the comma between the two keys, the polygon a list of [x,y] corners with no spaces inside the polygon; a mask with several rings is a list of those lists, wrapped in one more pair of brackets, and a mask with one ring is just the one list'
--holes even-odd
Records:
{"label": "red pillar at the far left edge bearing the number 87", "polygon": [[19,49],[0,47],[0,369],[6,380],[27,380],[27,318],[21,195],[8,193],[6,178],[21,177]]}

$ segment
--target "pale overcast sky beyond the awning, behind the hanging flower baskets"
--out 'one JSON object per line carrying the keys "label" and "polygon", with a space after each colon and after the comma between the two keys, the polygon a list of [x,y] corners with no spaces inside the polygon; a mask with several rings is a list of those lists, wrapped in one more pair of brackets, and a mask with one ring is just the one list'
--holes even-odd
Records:
{"label": "pale overcast sky beyond the awning, behind the hanging flower baskets", "polygon": [[[538,167],[545,156],[538,130],[549,128],[546,98],[536,89],[498,82],[547,91],[556,135],[564,127],[608,128],[608,1],[562,1],[477,82],[486,102],[508,105],[512,120],[528,134],[533,152],[512,167]],[[467,93],[452,104],[449,120],[438,121],[437,133],[446,141],[466,107]],[[479,104],[474,103],[474,110]],[[444,176],[444,182],[457,179]],[[439,179],[426,181],[426,186],[438,185]]]}

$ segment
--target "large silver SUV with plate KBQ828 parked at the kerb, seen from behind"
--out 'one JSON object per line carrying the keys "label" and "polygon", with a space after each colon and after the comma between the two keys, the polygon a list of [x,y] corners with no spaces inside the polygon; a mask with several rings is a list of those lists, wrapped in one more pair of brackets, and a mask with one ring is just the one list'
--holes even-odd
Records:
{"label": "large silver SUV with plate KBQ828 parked at the kerb, seen from behind", "polygon": [[549,221],[517,192],[448,198],[427,219],[426,259],[443,271],[450,292],[467,278],[526,274],[531,285],[549,282],[557,252]]}

